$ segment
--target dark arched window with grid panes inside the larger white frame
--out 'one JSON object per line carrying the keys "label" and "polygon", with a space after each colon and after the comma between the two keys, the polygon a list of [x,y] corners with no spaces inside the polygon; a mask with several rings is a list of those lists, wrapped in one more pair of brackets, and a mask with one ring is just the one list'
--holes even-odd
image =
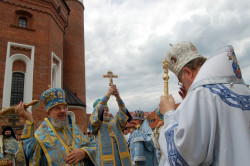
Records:
{"label": "dark arched window with grid panes inside the larger white frame", "polygon": [[11,84],[10,105],[18,104],[23,101],[24,94],[24,74],[20,72],[13,72]]}

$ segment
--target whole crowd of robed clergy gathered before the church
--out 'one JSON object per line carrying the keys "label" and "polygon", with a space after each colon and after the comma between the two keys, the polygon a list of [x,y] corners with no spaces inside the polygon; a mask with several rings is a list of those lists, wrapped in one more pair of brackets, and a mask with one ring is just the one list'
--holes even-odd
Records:
{"label": "whole crowd of robed clergy gathered before the church", "polygon": [[[232,46],[207,59],[191,42],[180,42],[171,45],[166,62],[183,100],[176,108],[172,95],[161,96],[161,120],[153,131],[144,112],[135,110],[132,117],[118,88],[110,85],[93,104],[85,136],[67,114],[64,91],[51,88],[41,95],[47,118],[38,129],[24,103],[16,106],[25,119],[22,137],[18,142],[11,128],[4,129],[0,157],[22,166],[249,165],[250,89]],[[111,118],[112,96],[119,110]]]}

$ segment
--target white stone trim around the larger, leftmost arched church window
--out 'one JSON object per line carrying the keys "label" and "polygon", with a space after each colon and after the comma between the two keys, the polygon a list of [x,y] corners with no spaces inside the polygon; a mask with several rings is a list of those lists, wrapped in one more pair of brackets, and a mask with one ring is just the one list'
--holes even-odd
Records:
{"label": "white stone trim around the larger, leftmost arched church window", "polygon": [[[10,55],[10,49],[12,46],[21,47],[31,50],[31,59],[23,54]],[[15,61],[23,61],[26,65],[25,78],[24,78],[24,102],[30,102],[32,100],[33,93],[33,70],[34,70],[34,54],[35,47],[25,44],[8,42],[6,63],[5,63],[5,74],[4,74],[4,86],[3,86],[3,103],[2,107],[10,106],[10,94],[11,94],[11,83],[12,83],[12,68]]]}

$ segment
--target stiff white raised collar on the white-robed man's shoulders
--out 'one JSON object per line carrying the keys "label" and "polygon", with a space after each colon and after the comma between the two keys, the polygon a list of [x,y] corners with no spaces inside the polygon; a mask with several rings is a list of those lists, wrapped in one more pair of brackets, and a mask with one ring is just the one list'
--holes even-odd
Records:
{"label": "stiff white raised collar on the white-robed man's shoulders", "polygon": [[202,65],[190,89],[207,84],[244,84],[233,46],[223,47]]}

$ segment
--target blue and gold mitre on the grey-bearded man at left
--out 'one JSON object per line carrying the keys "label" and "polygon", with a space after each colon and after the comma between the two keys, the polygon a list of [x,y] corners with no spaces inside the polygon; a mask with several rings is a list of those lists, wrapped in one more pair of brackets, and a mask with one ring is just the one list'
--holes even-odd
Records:
{"label": "blue and gold mitre on the grey-bearded man at left", "polygon": [[67,105],[65,101],[65,93],[60,88],[50,88],[44,91],[41,95],[41,101],[45,105],[47,111],[59,104]]}

